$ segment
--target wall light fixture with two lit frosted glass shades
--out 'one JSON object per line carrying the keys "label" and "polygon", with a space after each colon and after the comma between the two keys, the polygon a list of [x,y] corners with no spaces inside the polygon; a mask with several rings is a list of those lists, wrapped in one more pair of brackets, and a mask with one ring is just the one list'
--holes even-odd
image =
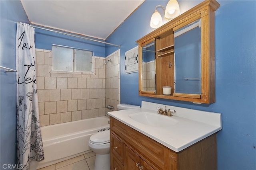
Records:
{"label": "wall light fixture with two lit frosted glass shades", "polygon": [[[156,6],[156,8],[161,7],[164,10],[164,7],[161,5]],[[162,16],[158,12],[158,10],[154,10],[151,20],[150,20],[150,27],[152,28],[158,28],[161,25],[163,25]],[[166,5],[166,8],[164,10],[164,18],[166,20],[175,18],[180,14],[180,6],[177,2],[177,0],[169,0],[168,4]]]}

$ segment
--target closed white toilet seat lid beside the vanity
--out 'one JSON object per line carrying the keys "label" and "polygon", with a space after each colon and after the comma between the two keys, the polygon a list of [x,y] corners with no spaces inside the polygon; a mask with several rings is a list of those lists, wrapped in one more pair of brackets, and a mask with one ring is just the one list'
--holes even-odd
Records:
{"label": "closed white toilet seat lid beside the vanity", "polygon": [[96,145],[110,143],[110,131],[101,131],[90,137],[90,142]]}

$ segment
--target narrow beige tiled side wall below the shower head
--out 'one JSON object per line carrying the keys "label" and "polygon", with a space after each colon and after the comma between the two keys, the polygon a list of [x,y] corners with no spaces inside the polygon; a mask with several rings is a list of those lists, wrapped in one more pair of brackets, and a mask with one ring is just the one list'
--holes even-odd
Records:
{"label": "narrow beige tiled side wall below the shower head", "polygon": [[[120,104],[120,52],[119,50],[106,57],[106,106],[114,106],[114,111],[117,109],[117,104]],[[112,111],[106,109],[107,111]]]}

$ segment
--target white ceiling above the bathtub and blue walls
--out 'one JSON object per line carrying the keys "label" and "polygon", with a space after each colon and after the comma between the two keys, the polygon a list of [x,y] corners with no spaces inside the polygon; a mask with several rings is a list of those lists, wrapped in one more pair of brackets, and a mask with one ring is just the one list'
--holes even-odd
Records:
{"label": "white ceiling above the bathtub and blue walls", "polygon": [[144,0],[20,0],[30,23],[106,39]]}

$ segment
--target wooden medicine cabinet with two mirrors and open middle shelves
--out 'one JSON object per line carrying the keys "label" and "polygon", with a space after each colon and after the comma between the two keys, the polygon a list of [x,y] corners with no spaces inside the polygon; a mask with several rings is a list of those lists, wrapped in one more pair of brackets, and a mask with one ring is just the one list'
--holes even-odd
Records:
{"label": "wooden medicine cabinet with two mirrors and open middle shelves", "polygon": [[[136,41],[140,96],[215,102],[214,12],[219,6],[205,0]],[[163,95],[163,86],[172,87],[170,95]]]}

